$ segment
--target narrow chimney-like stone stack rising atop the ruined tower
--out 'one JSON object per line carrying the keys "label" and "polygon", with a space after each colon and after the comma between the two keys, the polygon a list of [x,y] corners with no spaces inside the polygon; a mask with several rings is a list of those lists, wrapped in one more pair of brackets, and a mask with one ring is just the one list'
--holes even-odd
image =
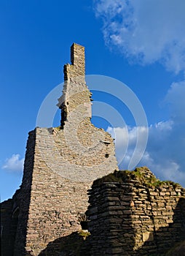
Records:
{"label": "narrow chimney-like stone stack rising atop the ruined tower", "polygon": [[64,65],[63,95],[58,106],[61,111],[61,127],[65,121],[79,124],[83,118],[91,118],[91,93],[85,83],[84,47],[71,45],[71,64]]}

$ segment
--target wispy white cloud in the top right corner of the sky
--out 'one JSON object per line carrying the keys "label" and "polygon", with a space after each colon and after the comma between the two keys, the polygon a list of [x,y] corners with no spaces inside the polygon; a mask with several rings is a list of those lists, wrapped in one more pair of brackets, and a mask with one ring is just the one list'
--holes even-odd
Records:
{"label": "wispy white cloud in the top right corner of the sky", "polygon": [[130,59],[161,61],[174,72],[185,69],[184,0],[96,0],[106,45]]}

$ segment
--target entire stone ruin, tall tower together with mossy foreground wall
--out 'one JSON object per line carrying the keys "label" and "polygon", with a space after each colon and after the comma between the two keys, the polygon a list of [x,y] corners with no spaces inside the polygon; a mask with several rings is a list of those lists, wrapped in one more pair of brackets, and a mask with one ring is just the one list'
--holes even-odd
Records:
{"label": "entire stone ruin, tall tower together with mossy foreground wall", "polygon": [[[84,47],[73,44],[60,127],[29,132],[22,184],[1,203],[3,256],[161,256],[185,240],[185,190],[146,167],[118,170],[111,135],[90,122],[84,68]],[[75,232],[85,212],[91,236],[81,250]],[[71,238],[74,249],[64,246]]]}

